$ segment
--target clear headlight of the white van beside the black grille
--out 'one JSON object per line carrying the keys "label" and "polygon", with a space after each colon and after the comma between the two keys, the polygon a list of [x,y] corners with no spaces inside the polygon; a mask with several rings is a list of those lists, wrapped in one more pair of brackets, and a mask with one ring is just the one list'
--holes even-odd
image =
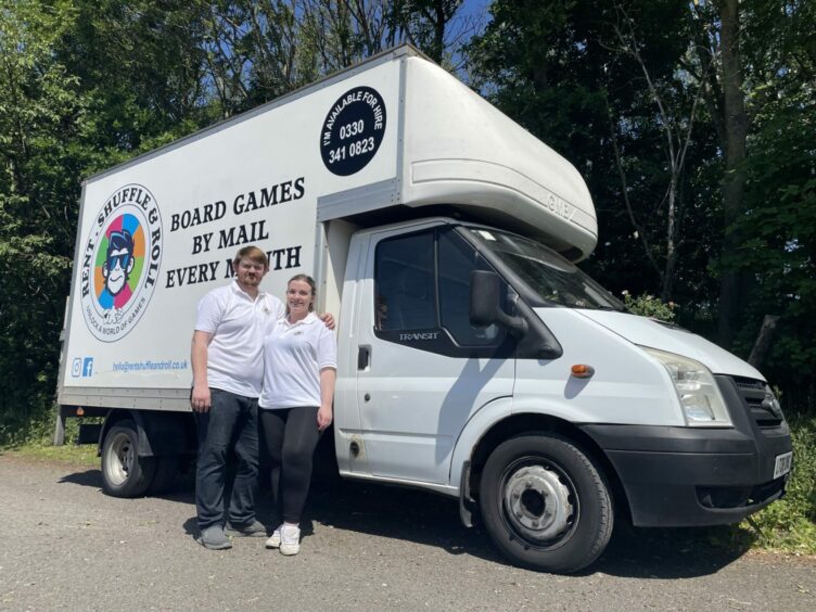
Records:
{"label": "clear headlight of the white van beside the black grille", "polygon": [[686,424],[693,428],[731,426],[731,417],[711,370],[693,359],[641,346],[663,364],[677,391]]}

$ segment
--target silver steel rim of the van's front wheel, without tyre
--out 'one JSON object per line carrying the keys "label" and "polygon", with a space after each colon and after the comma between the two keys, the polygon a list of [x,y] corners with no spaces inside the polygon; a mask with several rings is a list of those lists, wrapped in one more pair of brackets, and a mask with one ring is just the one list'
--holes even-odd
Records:
{"label": "silver steel rim of the van's front wheel, without tyre", "polygon": [[522,539],[537,546],[559,539],[577,513],[571,483],[549,466],[511,466],[503,480],[505,517]]}

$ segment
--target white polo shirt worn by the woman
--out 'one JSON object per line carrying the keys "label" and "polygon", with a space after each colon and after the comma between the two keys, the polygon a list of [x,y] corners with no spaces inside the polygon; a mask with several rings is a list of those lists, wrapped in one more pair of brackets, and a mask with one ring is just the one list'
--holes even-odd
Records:
{"label": "white polo shirt worn by the woman", "polygon": [[320,406],[320,370],[337,368],[337,342],[315,313],[282,318],[264,342],[262,408]]}

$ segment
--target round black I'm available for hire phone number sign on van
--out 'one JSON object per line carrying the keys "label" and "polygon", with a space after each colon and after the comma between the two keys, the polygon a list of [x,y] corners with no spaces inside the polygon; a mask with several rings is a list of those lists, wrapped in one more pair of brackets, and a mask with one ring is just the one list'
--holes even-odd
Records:
{"label": "round black I'm available for hire phone number sign on van", "polygon": [[385,133],[385,104],[370,87],[346,91],[332,105],[320,133],[320,155],[335,175],[347,177],[366,167]]}

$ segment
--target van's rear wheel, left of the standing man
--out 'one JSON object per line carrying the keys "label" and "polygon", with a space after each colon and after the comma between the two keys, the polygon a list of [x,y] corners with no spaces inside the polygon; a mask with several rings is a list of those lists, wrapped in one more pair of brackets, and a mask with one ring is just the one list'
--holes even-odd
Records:
{"label": "van's rear wheel, left of the standing man", "polygon": [[138,497],[153,481],[153,457],[139,458],[139,434],[131,420],[116,423],[102,444],[102,489],[114,497]]}

